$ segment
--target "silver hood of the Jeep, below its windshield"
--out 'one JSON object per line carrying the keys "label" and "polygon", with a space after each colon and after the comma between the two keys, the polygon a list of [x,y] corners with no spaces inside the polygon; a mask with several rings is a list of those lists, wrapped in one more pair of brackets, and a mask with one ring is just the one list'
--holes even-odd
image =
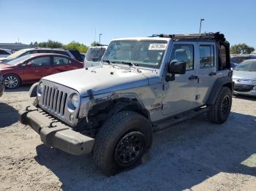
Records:
{"label": "silver hood of the Jeep, below its windshield", "polygon": [[124,90],[132,87],[148,85],[148,78],[143,70],[113,68],[112,66],[98,66],[88,69],[77,69],[53,74],[42,79],[56,82],[77,90],[81,96],[88,95],[87,90],[92,90],[94,95]]}

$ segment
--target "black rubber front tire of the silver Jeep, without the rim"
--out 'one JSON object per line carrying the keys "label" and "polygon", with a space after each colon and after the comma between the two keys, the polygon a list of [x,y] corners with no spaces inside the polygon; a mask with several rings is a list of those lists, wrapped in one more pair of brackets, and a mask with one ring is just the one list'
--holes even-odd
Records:
{"label": "black rubber front tire of the silver Jeep, without the rim", "polygon": [[[140,132],[143,134],[142,152],[138,158],[129,165],[120,165],[117,162],[116,150],[120,141],[129,136],[130,133]],[[123,111],[113,114],[99,129],[97,133],[93,156],[94,163],[107,176],[118,174],[120,171],[130,169],[141,163],[141,158],[148,152],[152,144],[151,123],[141,114]],[[144,139],[145,138],[145,139]]]}

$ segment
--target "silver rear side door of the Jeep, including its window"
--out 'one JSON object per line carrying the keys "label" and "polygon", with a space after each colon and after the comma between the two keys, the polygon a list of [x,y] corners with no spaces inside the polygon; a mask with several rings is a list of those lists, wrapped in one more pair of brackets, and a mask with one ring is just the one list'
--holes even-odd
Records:
{"label": "silver rear side door of the Jeep, including its window", "polygon": [[206,103],[206,99],[217,79],[217,50],[214,42],[198,42],[198,84],[196,101],[198,105]]}

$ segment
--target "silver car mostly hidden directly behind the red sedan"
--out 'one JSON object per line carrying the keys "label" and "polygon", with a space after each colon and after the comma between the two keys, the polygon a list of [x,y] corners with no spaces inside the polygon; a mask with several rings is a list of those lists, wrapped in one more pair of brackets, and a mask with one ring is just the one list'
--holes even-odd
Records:
{"label": "silver car mostly hidden directly behind the red sedan", "polygon": [[15,58],[20,58],[23,55],[30,55],[35,53],[55,53],[60,55],[67,55],[70,58],[74,58],[80,62],[83,62],[83,58],[78,50],[61,50],[61,49],[51,49],[51,48],[26,48],[14,52],[12,55],[7,56],[7,58],[0,58],[0,63],[7,63],[14,60]]}

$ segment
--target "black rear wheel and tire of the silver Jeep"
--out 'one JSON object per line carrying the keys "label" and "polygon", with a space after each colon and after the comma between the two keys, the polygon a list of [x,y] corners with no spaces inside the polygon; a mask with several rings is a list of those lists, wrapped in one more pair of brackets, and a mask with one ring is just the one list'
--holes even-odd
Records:
{"label": "black rear wheel and tire of the silver Jeep", "polygon": [[232,106],[232,93],[230,88],[222,87],[214,105],[209,106],[207,117],[211,122],[223,123],[227,120]]}

